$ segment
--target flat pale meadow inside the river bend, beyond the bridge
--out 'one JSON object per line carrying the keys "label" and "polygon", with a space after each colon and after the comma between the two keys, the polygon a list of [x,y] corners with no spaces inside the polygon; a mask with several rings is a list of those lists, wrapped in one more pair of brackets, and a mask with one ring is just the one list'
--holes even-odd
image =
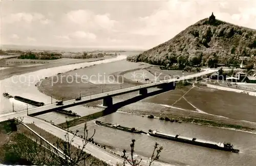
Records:
{"label": "flat pale meadow inside the river bend, beyond the bridge", "polygon": [[[120,72],[117,71],[142,67],[147,66],[138,63],[126,63],[125,59],[116,62],[103,63],[71,70],[67,73],[58,75],[58,78],[49,77],[48,79],[42,80],[37,88],[42,93],[45,93],[47,96],[52,96],[54,99],[70,100],[77,98],[80,92],[81,96],[84,97],[135,86],[137,84],[136,81],[127,82],[126,78],[122,77]],[[88,79],[82,79],[82,76],[86,76]],[[120,80],[117,78],[120,78]],[[71,81],[72,79],[77,81]],[[54,84],[52,84],[53,81]],[[63,89],[65,89],[65,91],[63,91]]]}

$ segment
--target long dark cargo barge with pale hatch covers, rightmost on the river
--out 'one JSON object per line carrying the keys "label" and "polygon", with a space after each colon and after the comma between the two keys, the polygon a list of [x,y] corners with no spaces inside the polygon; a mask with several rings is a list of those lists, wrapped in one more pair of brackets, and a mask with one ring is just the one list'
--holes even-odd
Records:
{"label": "long dark cargo barge with pale hatch covers, rightmost on the river", "polygon": [[148,130],[148,134],[158,138],[179,141],[181,143],[187,143],[187,144],[192,144],[192,145],[197,145],[197,146],[202,146],[202,147],[207,147],[207,148],[212,148],[217,150],[229,151],[233,153],[239,153],[239,150],[233,149],[233,145],[231,145],[230,143],[215,143],[214,141],[205,141],[197,138],[188,138],[180,135],[165,134],[156,130],[155,131]]}

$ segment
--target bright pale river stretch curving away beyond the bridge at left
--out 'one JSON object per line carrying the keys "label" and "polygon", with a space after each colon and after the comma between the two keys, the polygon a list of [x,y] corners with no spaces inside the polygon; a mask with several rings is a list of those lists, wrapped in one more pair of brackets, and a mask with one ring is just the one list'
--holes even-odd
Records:
{"label": "bright pale river stretch curving away beyond the bridge at left", "polygon": [[[45,104],[51,103],[51,97],[46,96],[45,94],[39,92],[35,83],[38,82],[40,79],[45,77],[51,77],[57,75],[58,73],[65,73],[69,70],[73,70],[75,68],[91,66],[94,64],[101,64],[101,63],[108,63],[113,62],[121,59],[125,59],[126,56],[118,56],[112,59],[105,59],[95,62],[85,62],[85,63],[78,63],[78,64],[70,64],[65,66],[59,67],[52,67],[41,69],[36,72],[31,72],[19,76],[13,76],[4,80],[0,80],[0,93],[1,93],[1,114],[12,112],[12,102],[9,99],[2,96],[2,93],[5,91],[11,94],[12,96],[21,96],[24,98],[28,98],[31,100],[35,100],[38,102],[44,102]],[[53,99],[53,102],[55,100]],[[27,109],[27,104],[21,104],[13,102],[15,111],[25,110]],[[33,106],[29,106],[32,108]]]}

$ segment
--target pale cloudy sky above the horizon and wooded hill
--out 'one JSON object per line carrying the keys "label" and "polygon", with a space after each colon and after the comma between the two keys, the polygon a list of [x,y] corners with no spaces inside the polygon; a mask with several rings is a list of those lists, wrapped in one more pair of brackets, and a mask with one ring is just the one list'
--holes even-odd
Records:
{"label": "pale cloudy sky above the horizon and wooded hill", "polygon": [[209,17],[256,29],[256,1],[0,0],[1,44],[151,49]]}

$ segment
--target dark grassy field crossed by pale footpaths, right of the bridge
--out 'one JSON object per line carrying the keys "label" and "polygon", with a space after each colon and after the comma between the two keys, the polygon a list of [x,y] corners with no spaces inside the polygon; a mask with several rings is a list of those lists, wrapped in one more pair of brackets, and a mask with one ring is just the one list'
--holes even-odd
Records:
{"label": "dark grassy field crossed by pale footpaths, right of the bridge", "polygon": [[[146,102],[157,104],[173,105],[181,98],[190,87],[184,87],[174,91],[159,94],[158,96],[146,99]],[[247,94],[210,89],[204,86],[194,87],[189,90],[184,98],[197,109],[214,115],[225,116],[234,120],[256,122],[254,108],[255,97]],[[184,98],[173,106],[183,109],[194,110],[191,104],[185,102]],[[186,103],[186,104],[184,104]]]}

